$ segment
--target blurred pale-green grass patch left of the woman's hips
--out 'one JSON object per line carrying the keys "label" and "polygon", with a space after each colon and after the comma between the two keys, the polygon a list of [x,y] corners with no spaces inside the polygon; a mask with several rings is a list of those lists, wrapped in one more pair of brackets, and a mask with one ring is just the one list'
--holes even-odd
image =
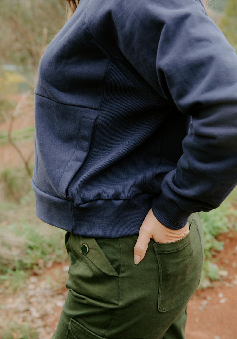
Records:
{"label": "blurred pale-green grass patch left of the woman's hips", "polygon": [[32,271],[67,260],[65,231],[36,217],[32,190],[19,202],[2,202],[0,210],[0,284],[16,290]]}

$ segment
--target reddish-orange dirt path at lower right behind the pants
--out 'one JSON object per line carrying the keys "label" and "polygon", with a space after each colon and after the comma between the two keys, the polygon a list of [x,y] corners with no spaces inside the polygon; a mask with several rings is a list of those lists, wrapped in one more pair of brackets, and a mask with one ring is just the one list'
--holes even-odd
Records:
{"label": "reddish-orange dirt path at lower right behind the pants", "polygon": [[213,261],[223,275],[213,288],[198,290],[187,308],[186,339],[237,339],[237,234],[221,235],[224,250]]}

